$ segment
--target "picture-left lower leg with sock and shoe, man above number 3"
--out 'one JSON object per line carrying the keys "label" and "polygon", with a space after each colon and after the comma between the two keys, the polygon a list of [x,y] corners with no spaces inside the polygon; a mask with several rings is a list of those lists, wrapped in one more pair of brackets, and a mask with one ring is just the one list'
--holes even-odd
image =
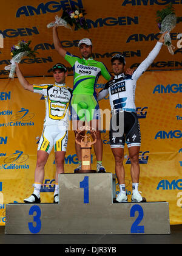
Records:
{"label": "picture-left lower leg with sock and shoe, man above number 3", "polygon": [[45,151],[38,150],[37,151],[37,161],[36,161],[36,168],[35,168],[35,182],[34,182],[34,191],[33,194],[29,197],[24,199],[25,203],[39,203],[40,200],[40,190],[42,181],[44,180],[44,166],[47,162],[49,154]]}

